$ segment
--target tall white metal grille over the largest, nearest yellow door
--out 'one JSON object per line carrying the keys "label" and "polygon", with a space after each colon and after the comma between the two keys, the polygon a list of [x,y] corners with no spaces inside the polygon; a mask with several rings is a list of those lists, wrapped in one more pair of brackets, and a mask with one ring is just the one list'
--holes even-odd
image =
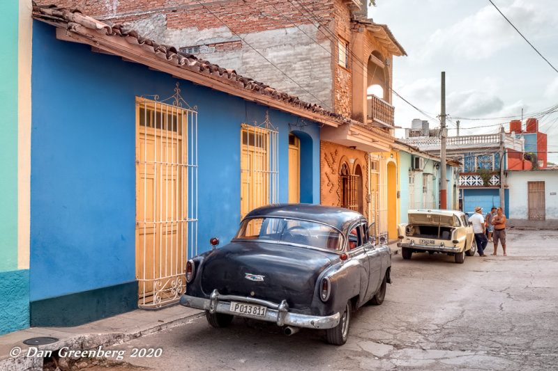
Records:
{"label": "tall white metal grille over the largest, nearest yellow door", "polygon": [[178,84],[175,92],[173,104],[136,99],[140,308],[178,301],[186,262],[197,255],[197,108],[182,107]]}

